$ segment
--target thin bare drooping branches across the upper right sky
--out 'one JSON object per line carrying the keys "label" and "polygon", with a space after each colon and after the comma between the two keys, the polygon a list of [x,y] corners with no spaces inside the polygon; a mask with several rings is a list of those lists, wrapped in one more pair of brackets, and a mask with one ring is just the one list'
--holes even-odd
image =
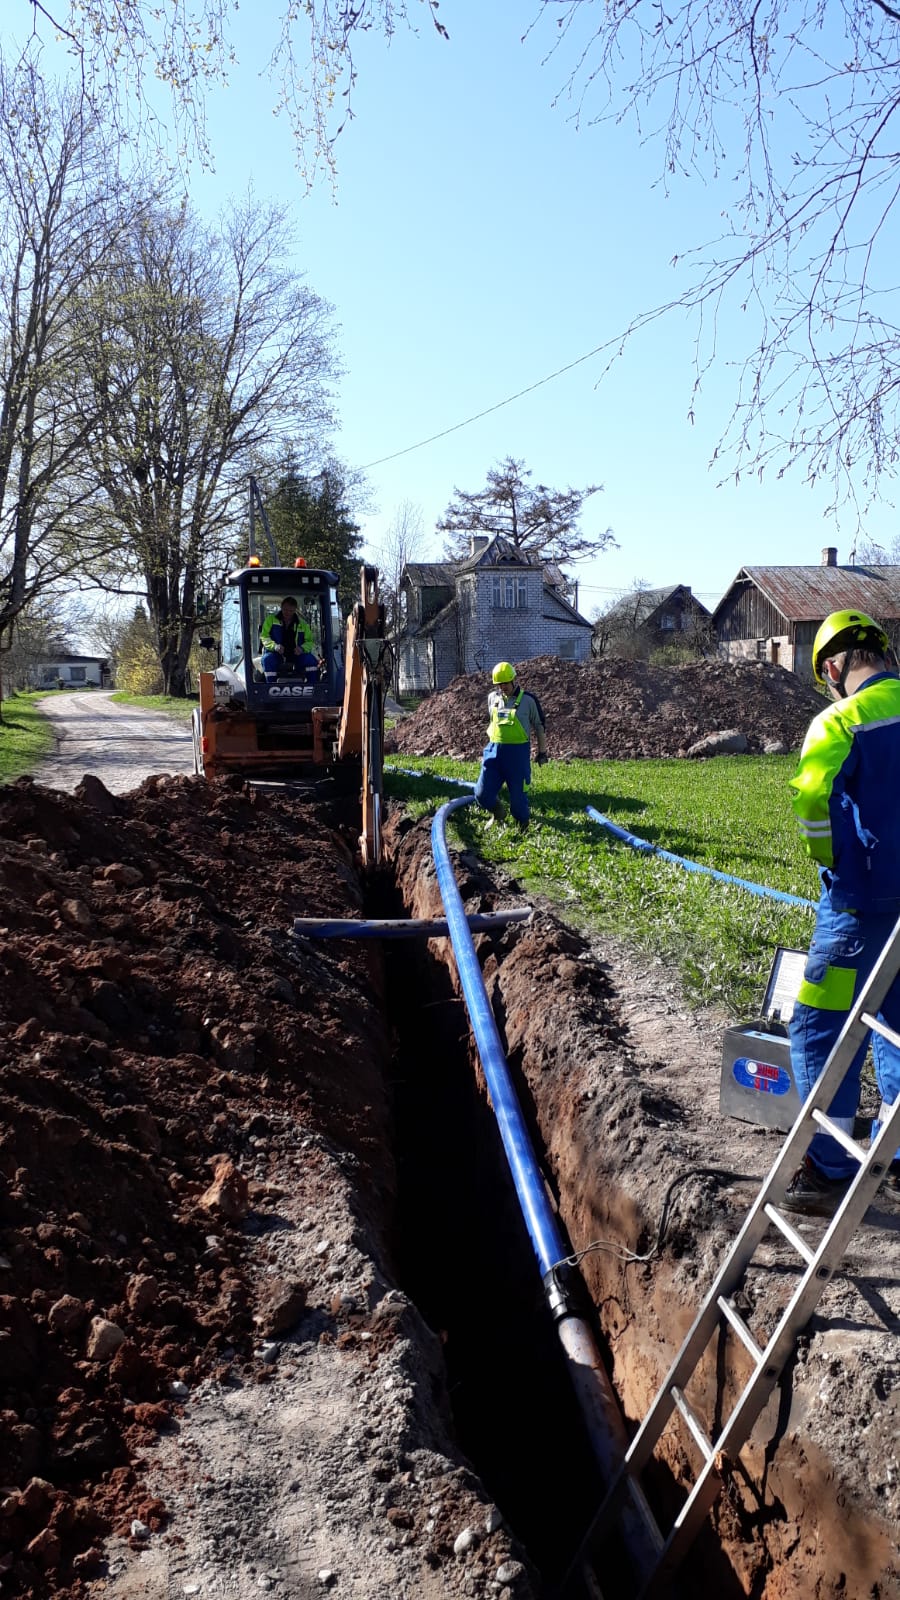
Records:
{"label": "thin bare drooping branches across the upper right sky", "polygon": [[796,464],[838,499],[898,459],[898,27],[887,0],[540,0],[533,21],[578,123],[631,120],[666,187],[727,197],[671,301],[698,317],[697,389],[725,312],[748,330],[719,454],[737,474]]}

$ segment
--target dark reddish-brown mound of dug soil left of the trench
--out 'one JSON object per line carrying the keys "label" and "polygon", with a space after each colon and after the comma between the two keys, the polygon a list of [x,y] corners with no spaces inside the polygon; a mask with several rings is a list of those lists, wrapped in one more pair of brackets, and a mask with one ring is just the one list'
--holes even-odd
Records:
{"label": "dark reddish-brown mound of dug soil left of the trench", "polygon": [[380,1022],[357,950],[298,962],[277,931],[359,914],[312,806],[21,781],[0,886],[0,1573],[75,1595],[106,1534],[165,1525],[136,1461],[186,1386],[250,1363],[245,1232],[287,1118],[349,1152],[378,1230]]}

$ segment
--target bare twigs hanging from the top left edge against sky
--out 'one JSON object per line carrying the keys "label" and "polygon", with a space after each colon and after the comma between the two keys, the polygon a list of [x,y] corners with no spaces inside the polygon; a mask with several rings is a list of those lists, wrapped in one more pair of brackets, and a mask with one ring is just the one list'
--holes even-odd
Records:
{"label": "bare twigs hanging from the top left edge against sky", "polygon": [[[168,90],[181,152],[210,160],[205,107],[210,90],[227,86],[237,56],[231,22],[234,0],[8,0],[21,14],[27,48],[61,37],[74,58],[88,107],[102,107],[120,126],[138,117],[144,133],[163,134],[151,85]],[[333,168],[335,141],[352,115],[354,43],[364,32],[388,38],[418,16],[447,38],[439,0],[282,0],[258,11],[271,45],[267,75],[274,110],[290,122],[298,165],[312,181],[317,165]]]}

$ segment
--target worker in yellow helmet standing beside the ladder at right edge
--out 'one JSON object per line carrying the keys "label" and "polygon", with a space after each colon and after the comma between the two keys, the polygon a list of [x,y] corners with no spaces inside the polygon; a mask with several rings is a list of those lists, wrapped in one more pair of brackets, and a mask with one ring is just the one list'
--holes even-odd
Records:
{"label": "worker in yellow helmet standing beside the ladder at right edge", "polygon": [[[814,717],[791,778],[806,848],[822,896],[804,981],[791,1018],[791,1066],[801,1101],[820,1077],[862,984],[900,917],[900,678],[887,634],[865,611],[833,611],[815,635],[812,670],[833,704]],[[900,1032],[900,979],[879,1016]],[[854,1134],[860,1045],[830,1118]],[[882,1107],[900,1093],[900,1051],[873,1037]],[[879,1120],[873,1123],[873,1138]],[[817,1133],[785,1195],[785,1208],[830,1216],[857,1171],[854,1157]],[[894,1162],[890,1181],[898,1181]]]}

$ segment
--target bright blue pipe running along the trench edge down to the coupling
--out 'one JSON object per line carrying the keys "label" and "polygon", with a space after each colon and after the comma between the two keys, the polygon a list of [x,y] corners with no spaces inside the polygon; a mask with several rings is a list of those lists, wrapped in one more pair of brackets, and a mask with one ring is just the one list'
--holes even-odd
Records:
{"label": "bright blue pipe running along the trench edge down to the coupling", "polygon": [[516,1091],[509,1078],[509,1067],[506,1064],[493,1011],[490,1010],[490,1000],[487,998],[487,990],[484,987],[482,970],[479,966],[479,958],[476,955],[476,947],[466,922],[463,899],[460,890],[456,888],[456,878],[444,834],[450,813],[456,811],[463,805],[471,805],[472,798],[472,795],[460,795],[458,800],[447,800],[447,803],[440,806],[431,824],[431,848],[434,851],[437,886],[440,890],[444,910],[447,914],[447,925],[453,941],[460,982],[469,1010],[469,1019],[476,1035],[485,1082],[490,1090],[493,1114],[503,1139],[503,1149],[506,1152],[522,1216],[525,1218],[525,1226],[528,1229],[543,1277],[551,1267],[564,1259],[567,1248],[562,1243],[556,1218],[549,1208],[543,1178],[528,1138],[528,1130],[525,1126],[525,1118],[522,1117],[522,1109],[516,1099]]}

